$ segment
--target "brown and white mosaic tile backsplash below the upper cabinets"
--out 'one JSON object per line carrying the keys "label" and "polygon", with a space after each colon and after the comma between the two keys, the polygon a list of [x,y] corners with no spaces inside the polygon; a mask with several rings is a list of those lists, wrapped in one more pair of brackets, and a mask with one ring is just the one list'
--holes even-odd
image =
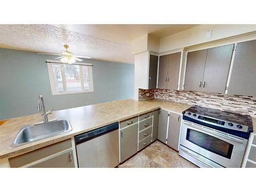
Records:
{"label": "brown and white mosaic tile backsplash below the upper cabinets", "polygon": [[[148,95],[148,96],[147,96]],[[150,98],[164,99],[185,104],[205,106],[211,109],[225,110],[256,117],[256,97],[227,95],[218,93],[202,93],[195,91],[176,91],[139,89],[139,100]]]}

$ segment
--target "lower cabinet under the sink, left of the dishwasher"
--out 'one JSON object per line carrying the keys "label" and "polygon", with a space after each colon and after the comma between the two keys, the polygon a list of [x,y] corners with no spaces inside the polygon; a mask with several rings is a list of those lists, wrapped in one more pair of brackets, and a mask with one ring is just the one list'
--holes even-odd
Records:
{"label": "lower cabinet under the sink, left of the dishwasher", "polygon": [[9,159],[11,167],[75,167],[71,139]]}

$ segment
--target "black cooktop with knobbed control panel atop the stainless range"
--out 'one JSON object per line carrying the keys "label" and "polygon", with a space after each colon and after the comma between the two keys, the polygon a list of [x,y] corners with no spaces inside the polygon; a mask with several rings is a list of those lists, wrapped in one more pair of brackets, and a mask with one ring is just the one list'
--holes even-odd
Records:
{"label": "black cooktop with knobbed control panel atop the stainless range", "polygon": [[249,115],[241,115],[201,106],[192,106],[184,111],[183,119],[246,139],[253,132],[252,118]]}

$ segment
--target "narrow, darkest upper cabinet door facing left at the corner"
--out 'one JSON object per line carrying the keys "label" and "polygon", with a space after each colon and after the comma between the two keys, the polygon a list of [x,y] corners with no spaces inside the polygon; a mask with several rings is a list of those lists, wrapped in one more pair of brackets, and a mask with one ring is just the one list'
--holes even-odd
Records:
{"label": "narrow, darkest upper cabinet door facing left at the corner", "polygon": [[150,55],[150,72],[148,76],[148,89],[157,88],[158,56]]}

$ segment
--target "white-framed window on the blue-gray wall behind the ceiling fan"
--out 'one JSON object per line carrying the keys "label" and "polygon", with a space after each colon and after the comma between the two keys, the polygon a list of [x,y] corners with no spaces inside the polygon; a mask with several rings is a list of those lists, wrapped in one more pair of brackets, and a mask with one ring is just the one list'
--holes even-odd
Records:
{"label": "white-framed window on the blue-gray wall behind the ceiling fan", "polygon": [[92,65],[48,62],[52,95],[93,92]]}

